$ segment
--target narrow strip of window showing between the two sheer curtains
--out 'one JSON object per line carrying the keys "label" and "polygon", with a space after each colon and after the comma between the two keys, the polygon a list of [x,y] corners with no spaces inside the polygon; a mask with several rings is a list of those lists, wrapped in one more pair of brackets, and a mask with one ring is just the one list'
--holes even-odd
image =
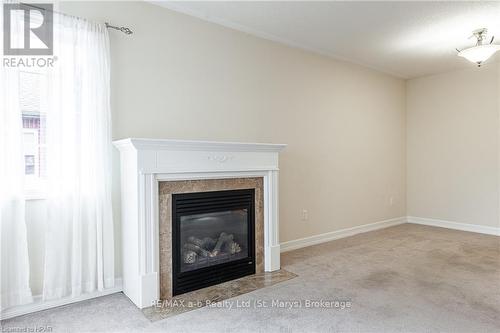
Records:
{"label": "narrow strip of window showing between the two sheer curtains", "polygon": [[28,197],[39,196],[44,192],[46,176],[46,110],[42,98],[46,74],[34,69],[19,75],[26,190]]}

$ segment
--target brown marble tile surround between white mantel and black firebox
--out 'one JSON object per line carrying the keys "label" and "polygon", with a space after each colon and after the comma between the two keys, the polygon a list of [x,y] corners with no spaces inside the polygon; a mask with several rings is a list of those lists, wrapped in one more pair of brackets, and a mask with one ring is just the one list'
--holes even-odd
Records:
{"label": "brown marble tile surround between white mantel and black firebox", "polygon": [[[159,183],[160,298],[172,298],[172,194],[255,189],[255,269],[264,272],[264,181],[256,178],[228,178],[164,181]],[[204,288],[214,288],[217,286]]]}

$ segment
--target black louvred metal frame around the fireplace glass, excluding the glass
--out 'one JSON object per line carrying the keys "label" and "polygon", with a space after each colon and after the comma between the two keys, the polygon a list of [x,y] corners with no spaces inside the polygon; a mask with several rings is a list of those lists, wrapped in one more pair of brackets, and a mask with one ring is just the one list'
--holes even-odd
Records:
{"label": "black louvred metal frame around the fireplace glass, excluding the glass", "polygon": [[[247,209],[248,212],[248,256],[181,272],[181,216],[235,209]],[[255,274],[255,189],[172,194],[172,294],[175,296],[252,274]]]}

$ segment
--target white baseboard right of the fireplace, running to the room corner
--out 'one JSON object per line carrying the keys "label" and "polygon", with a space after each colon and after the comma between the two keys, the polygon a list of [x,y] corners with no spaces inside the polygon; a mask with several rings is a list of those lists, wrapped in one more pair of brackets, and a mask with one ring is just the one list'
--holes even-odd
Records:
{"label": "white baseboard right of the fireplace, running to the room corner", "polygon": [[406,223],[406,216],[397,217],[389,220],[379,221],[375,223],[363,224],[357,227],[340,229],[336,231],[326,232],[324,234],[314,235],[305,238],[294,239],[288,242],[281,243],[281,252],[297,250],[303,247],[329,242],[335,239],[353,236],[356,234],[374,231],[392,227],[398,224]]}

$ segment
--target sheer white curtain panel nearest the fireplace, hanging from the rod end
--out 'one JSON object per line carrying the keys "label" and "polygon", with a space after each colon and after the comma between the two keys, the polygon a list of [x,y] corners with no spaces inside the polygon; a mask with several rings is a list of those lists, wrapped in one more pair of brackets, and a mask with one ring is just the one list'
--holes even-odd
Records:
{"label": "sheer white curtain panel nearest the fireplace, hanging from the rod end", "polygon": [[108,32],[55,14],[48,82],[45,300],[114,286]]}

